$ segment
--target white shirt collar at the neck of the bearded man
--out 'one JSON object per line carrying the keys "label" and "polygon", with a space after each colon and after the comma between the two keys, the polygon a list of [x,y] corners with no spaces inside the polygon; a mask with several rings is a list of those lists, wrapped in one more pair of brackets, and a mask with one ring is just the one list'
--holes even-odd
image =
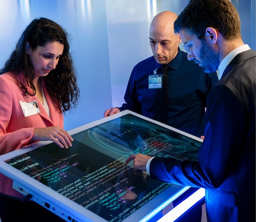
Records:
{"label": "white shirt collar at the neck of the bearded man", "polygon": [[219,69],[219,76],[218,76],[219,80],[221,79],[225,68],[232,61],[232,59],[234,57],[236,57],[238,54],[243,53],[247,50],[250,50],[249,45],[245,44],[245,45],[239,46],[239,47],[235,48],[233,51],[231,51],[229,54],[227,54],[223,60],[221,60],[221,63],[218,68]]}

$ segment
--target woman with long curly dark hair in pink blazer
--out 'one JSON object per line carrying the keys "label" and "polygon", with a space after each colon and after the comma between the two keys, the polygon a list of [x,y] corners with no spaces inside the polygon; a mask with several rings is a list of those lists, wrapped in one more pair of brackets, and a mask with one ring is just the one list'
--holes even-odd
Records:
{"label": "woman with long curly dark hair in pink blazer", "polygon": [[34,19],[0,74],[0,154],[38,140],[71,146],[62,111],[76,107],[79,89],[67,33],[47,18]]}

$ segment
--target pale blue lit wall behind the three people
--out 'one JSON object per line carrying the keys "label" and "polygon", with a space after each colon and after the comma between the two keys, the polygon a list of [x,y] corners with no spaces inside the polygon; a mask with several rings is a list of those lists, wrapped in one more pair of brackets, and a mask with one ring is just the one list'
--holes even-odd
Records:
{"label": "pale blue lit wall behind the three people", "polygon": [[[130,73],[152,55],[148,29],[161,11],[179,14],[189,0],[0,0],[0,66],[31,20],[47,17],[71,34],[71,52],[81,91],[77,109],[67,112],[65,129],[103,117],[121,106]],[[231,1],[242,36],[255,50],[255,0]]]}

